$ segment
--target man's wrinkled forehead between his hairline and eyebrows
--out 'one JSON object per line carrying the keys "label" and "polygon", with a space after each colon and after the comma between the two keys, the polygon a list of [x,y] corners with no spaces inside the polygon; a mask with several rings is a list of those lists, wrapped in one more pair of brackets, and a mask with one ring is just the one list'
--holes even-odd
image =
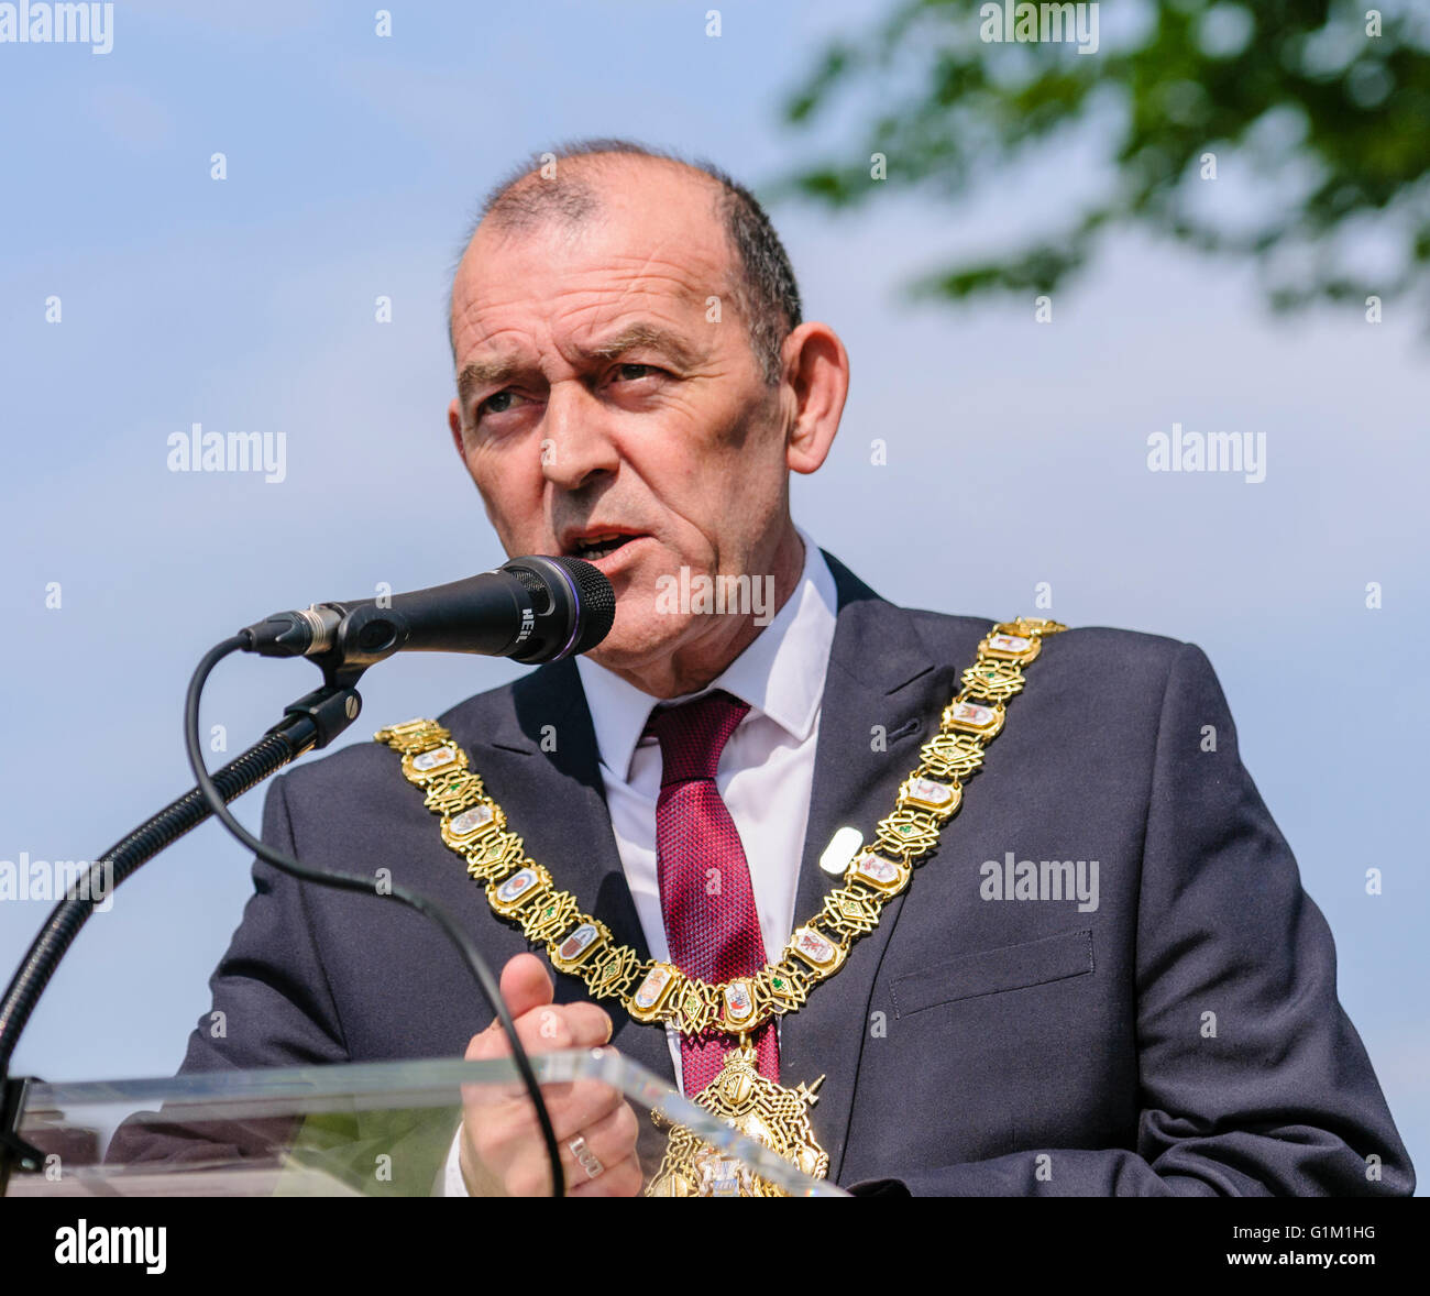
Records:
{"label": "man's wrinkled forehead between his hairline and eyebrows", "polygon": [[[586,167],[551,193],[519,182],[531,202],[482,222],[452,288],[453,346],[460,355],[516,316],[608,313],[622,302],[706,312],[731,285],[731,247],[719,186],[685,167]],[[516,193],[521,199],[521,193]]]}

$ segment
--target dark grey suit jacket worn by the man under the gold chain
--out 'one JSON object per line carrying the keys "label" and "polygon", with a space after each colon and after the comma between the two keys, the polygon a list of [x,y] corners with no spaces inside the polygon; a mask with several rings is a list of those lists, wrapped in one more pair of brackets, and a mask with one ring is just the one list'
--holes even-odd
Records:
{"label": "dark grey suit jacket worn by the man under the gold chain", "polygon": [[[894,607],[825,556],[839,609],[797,921],[838,884],[818,867],[829,837],[852,824],[872,838],[991,624]],[[831,1176],[915,1194],[1410,1193],[1406,1150],[1336,997],[1330,930],[1241,765],[1204,654],[1071,629],[1027,674],[937,854],[784,1018],[785,1083],[827,1076],[811,1114]],[[575,664],[442,722],[528,851],[645,956]],[[545,725],[553,752],[539,747]],[[279,778],[265,837],[310,864],[390,868],[458,914],[496,967],[528,948],[386,747]],[[1098,861],[1097,908],[985,898],[982,865],[1008,853]],[[227,1036],[200,1023],[184,1071],[459,1057],[488,1026],[422,918],[262,863],[253,878],[212,980]],[[583,994],[572,977],[556,986],[558,1001]],[[674,1083],[664,1030],[605,1007],[613,1044]]]}

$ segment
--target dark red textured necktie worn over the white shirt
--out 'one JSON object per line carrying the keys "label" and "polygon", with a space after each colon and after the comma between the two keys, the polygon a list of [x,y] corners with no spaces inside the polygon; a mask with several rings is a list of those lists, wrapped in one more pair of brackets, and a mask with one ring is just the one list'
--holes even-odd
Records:
{"label": "dark red textured necktie worn over the white shirt", "polygon": [[[678,707],[656,707],[645,728],[661,742],[655,855],[671,961],[712,984],[754,976],[765,966],[745,848],[715,787],[719,754],[746,711],[748,702],[715,689]],[[735,1043],[735,1036],[715,1030],[681,1036],[686,1097],[715,1079]],[[759,1073],[778,1083],[775,1023],[754,1031],[751,1043]]]}

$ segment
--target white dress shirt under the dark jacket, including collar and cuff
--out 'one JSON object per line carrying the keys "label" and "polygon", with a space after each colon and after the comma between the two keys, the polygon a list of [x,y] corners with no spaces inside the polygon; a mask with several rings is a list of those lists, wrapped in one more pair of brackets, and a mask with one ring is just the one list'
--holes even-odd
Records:
{"label": "white dress shirt under the dark jacket, including collar and cuff", "polygon": [[[795,888],[804,855],[814,787],[819,701],[834,644],[838,597],[819,546],[799,531],[804,571],[784,607],[729,664],[685,702],[722,688],[749,711],[721,752],[715,787],[729,807],[749,864],[765,957],[779,956],[794,930]],[[655,861],[655,802],[661,794],[661,745],[642,738],[656,698],[586,657],[576,658],[581,687],[601,755],[601,778],[621,867],[652,958],[669,958]],[[558,881],[559,864],[552,863]],[[778,1020],[778,1018],[776,1018]],[[679,1034],[666,1029],[676,1080]],[[448,1196],[466,1196],[458,1162],[460,1129],[446,1164]]]}

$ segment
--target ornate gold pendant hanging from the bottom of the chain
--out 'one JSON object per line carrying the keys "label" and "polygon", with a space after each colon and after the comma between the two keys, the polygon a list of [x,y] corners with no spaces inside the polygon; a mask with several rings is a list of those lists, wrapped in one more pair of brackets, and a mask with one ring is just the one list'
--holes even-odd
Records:
{"label": "ornate gold pendant hanging from the bottom of the chain", "polygon": [[[829,1173],[829,1156],[814,1137],[809,1109],[819,1100],[814,1084],[784,1089],[759,1074],[754,1046],[742,1034],[725,1054],[719,1074],[695,1104],[719,1116],[742,1134],[764,1143],[812,1179]],[[665,1159],[645,1190],[648,1197],[788,1197],[734,1157],[702,1143],[685,1126],[672,1126]]]}

